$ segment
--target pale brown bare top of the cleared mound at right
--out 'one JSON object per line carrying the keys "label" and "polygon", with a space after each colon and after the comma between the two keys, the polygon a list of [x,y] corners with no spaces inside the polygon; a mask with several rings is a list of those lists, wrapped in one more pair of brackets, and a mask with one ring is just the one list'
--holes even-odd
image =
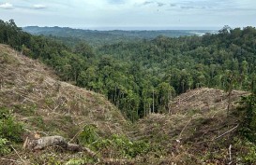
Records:
{"label": "pale brown bare top of the cleared mound at right", "polygon": [[[230,108],[237,106],[240,96],[248,95],[246,91],[233,90],[230,96]],[[229,104],[228,93],[220,89],[192,89],[177,96],[171,103],[171,113],[189,113],[198,111],[207,113],[210,110],[227,110]]]}

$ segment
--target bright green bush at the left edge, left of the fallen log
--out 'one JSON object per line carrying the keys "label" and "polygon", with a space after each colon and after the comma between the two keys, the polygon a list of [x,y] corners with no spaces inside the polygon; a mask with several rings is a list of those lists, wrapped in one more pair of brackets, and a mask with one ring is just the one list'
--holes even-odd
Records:
{"label": "bright green bush at the left edge, left of the fallen log", "polygon": [[23,125],[16,122],[8,108],[0,108],[0,138],[9,142],[22,142]]}

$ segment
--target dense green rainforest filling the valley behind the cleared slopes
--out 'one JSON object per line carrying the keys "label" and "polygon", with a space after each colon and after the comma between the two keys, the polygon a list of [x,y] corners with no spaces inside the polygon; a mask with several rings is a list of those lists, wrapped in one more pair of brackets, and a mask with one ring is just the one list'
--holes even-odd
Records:
{"label": "dense green rainforest filling the valley behind the cleared slopes", "polygon": [[104,94],[132,121],[172,113],[169,101],[188,89],[249,90],[255,79],[254,27],[97,47],[85,40],[67,45],[65,37],[28,34],[13,20],[0,21],[0,43],[48,64],[65,81]]}

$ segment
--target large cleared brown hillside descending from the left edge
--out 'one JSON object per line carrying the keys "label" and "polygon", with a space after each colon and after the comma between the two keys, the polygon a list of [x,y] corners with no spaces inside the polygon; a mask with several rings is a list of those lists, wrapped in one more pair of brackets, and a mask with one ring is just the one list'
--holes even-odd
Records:
{"label": "large cleared brown hillside descending from the left edge", "polygon": [[[36,134],[61,135],[75,142],[77,133],[86,126],[96,127],[98,136],[108,137],[113,133],[124,134],[129,125],[102,95],[59,81],[50,68],[7,45],[0,45],[0,107],[7,107],[15,120],[23,123],[23,140]],[[20,154],[26,159],[34,153]],[[15,154],[7,157],[21,159]],[[13,161],[2,159],[1,163]]]}

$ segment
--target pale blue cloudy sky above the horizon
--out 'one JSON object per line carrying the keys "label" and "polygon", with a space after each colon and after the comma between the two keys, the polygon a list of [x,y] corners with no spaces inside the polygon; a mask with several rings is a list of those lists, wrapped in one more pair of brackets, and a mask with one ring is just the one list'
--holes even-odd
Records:
{"label": "pale blue cloudy sky above the horizon", "polygon": [[256,0],[0,0],[18,26],[87,29],[218,29],[256,26]]}

